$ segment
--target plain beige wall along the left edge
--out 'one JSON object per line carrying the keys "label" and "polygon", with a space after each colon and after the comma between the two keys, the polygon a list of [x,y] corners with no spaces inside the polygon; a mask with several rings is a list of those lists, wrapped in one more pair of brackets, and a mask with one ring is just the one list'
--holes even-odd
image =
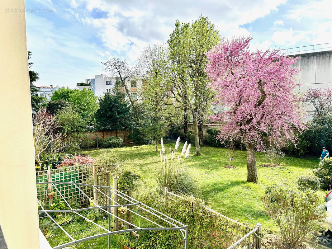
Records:
{"label": "plain beige wall along the left edge", "polygon": [[24,0],[0,1],[0,224],[9,249],[39,248],[23,9]]}

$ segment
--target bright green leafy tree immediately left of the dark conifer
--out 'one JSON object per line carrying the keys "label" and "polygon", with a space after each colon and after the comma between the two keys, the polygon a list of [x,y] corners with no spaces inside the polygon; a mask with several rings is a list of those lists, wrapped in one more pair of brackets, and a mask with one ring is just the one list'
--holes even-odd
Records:
{"label": "bright green leafy tree immediately left of the dark conifer", "polygon": [[74,90],[69,96],[69,102],[84,120],[88,123],[92,122],[92,118],[98,109],[97,97],[93,91],[86,88],[81,91]]}

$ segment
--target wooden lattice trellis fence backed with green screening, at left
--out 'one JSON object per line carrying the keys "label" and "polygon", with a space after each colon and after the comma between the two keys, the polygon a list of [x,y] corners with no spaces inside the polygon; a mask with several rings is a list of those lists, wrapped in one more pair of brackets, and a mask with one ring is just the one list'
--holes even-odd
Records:
{"label": "wooden lattice trellis fence backed with green screening, at left", "polygon": [[[110,172],[93,166],[92,164],[75,165],[57,169],[47,167],[47,170],[36,172],[36,182],[74,182],[97,186],[110,186]],[[88,207],[90,205],[89,200],[74,185],[60,184],[57,188],[67,200],[78,203],[81,207]],[[96,200],[97,203],[106,203],[106,198],[92,187],[82,186],[82,190],[89,198]],[[48,199],[48,193],[52,191],[54,190],[51,184],[37,184],[37,198],[44,208],[49,208],[53,203],[52,199]]]}

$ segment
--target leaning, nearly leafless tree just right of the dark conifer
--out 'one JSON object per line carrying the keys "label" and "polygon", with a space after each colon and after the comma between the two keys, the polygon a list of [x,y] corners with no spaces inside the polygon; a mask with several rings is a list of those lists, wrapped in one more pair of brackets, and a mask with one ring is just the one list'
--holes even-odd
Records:
{"label": "leaning, nearly leafless tree just right of the dark conifer", "polygon": [[126,99],[129,101],[131,107],[132,116],[135,120],[135,129],[139,133],[139,143],[142,143],[142,117],[143,112],[143,102],[141,91],[137,89],[136,98],[131,97],[130,91],[130,81],[137,79],[137,71],[128,66],[125,60],[120,58],[110,58],[104,64],[104,71],[108,72],[110,75],[115,75],[117,81],[120,82],[121,88],[124,90]]}

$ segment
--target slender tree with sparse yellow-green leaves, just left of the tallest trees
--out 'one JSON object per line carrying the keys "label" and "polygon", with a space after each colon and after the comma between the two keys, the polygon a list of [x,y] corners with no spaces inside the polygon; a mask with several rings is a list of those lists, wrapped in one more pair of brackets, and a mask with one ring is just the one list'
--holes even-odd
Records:
{"label": "slender tree with sparse yellow-green leaves, just left of the tallest trees", "polygon": [[165,48],[163,45],[147,46],[138,58],[137,67],[144,78],[142,87],[144,104],[151,117],[150,125],[144,133],[149,133],[155,141],[161,139],[162,127],[166,122],[166,107],[169,102],[170,89],[165,81]]}

